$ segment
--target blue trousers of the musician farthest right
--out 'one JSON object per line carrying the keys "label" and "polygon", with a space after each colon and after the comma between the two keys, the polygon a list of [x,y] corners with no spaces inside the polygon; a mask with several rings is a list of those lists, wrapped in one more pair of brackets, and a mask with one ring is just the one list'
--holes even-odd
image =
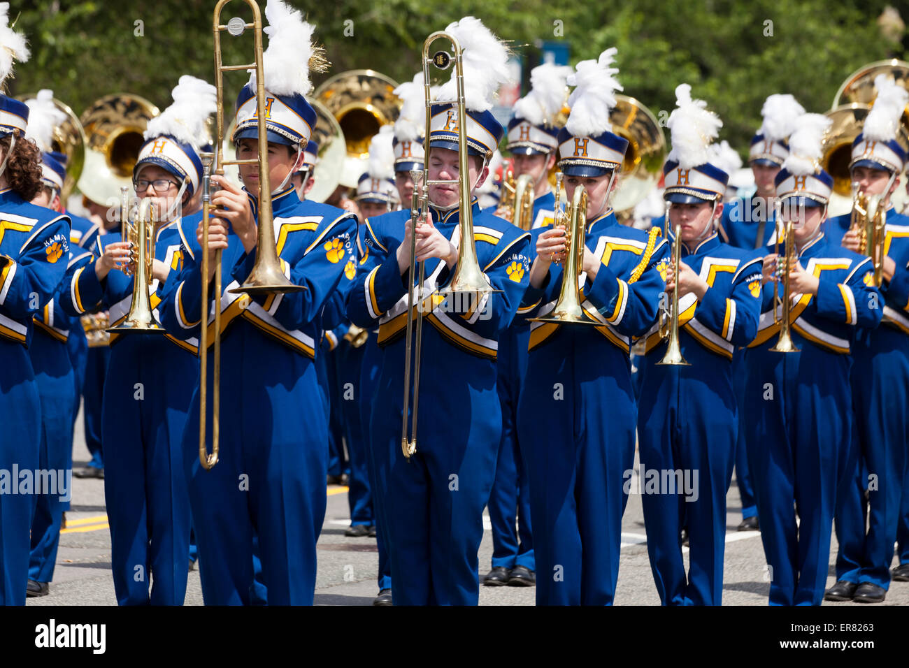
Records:
{"label": "blue trousers of the musician farthest right", "polygon": [[836,579],[887,589],[909,444],[909,337],[888,325],[863,331],[853,359],[855,464],[836,506]]}

